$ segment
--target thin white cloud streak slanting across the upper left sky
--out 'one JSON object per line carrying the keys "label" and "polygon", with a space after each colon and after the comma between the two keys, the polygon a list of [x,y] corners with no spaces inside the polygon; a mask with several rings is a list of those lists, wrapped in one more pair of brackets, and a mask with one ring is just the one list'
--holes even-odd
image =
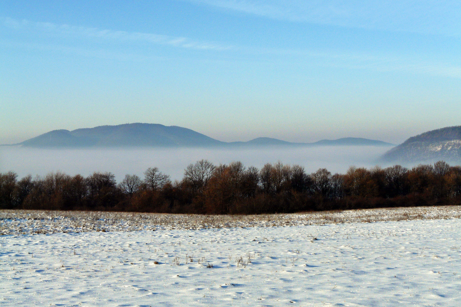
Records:
{"label": "thin white cloud streak slanting across the upper left sky", "polygon": [[169,35],[159,35],[152,33],[127,32],[110,29],[88,28],[71,26],[67,24],[31,22],[28,20],[17,20],[6,17],[3,20],[4,26],[22,31],[36,31],[54,35],[65,35],[87,39],[103,39],[117,42],[142,42],[158,45],[176,46],[187,49],[197,50],[229,50],[230,45],[218,44],[210,41],[194,41],[186,37],[174,37]]}

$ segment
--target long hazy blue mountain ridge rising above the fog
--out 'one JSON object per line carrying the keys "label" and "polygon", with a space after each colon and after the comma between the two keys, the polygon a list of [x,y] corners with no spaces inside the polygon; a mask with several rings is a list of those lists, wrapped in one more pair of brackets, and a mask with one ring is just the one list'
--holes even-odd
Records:
{"label": "long hazy blue mountain ridge rising above the fog", "polygon": [[160,124],[132,123],[98,126],[76,130],[53,130],[15,144],[24,147],[210,147],[210,146],[318,146],[393,144],[363,138],[320,140],[315,143],[292,143],[273,138],[256,138],[248,142],[222,142],[194,130]]}

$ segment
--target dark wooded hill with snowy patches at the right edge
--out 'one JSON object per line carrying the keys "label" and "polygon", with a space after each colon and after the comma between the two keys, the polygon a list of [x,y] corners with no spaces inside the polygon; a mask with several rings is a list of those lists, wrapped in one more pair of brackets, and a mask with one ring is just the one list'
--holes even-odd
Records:
{"label": "dark wooded hill with snowy patches at the right edge", "polygon": [[461,126],[444,127],[408,138],[387,151],[385,162],[461,162]]}

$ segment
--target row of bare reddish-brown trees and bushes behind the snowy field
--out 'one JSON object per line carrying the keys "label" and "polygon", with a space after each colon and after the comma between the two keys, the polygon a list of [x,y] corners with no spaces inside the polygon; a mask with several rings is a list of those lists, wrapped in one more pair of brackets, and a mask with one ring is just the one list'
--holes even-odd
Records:
{"label": "row of bare reddish-brown trees and bushes behind the snowy field", "polygon": [[0,173],[1,209],[261,214],[460,203],[461,167],[443,161],[411,169],[350,167],[346,174],[331,174],[320,168],[307,174],[302,166],[282,162],[258,169],[200,160],[174,182],[155,167],[144,178],[127,174],[119,183],[108,172],[20,180],[12,171]]}

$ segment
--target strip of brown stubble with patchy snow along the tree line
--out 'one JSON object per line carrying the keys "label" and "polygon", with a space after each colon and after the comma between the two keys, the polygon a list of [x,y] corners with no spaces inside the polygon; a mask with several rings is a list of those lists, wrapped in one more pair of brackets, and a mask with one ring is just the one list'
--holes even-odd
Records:
{"label": "strip of brown stubble with patchy snow along the tree line", "polygon": [[300,226],[391,220],[461,218],[461,206],[323,211],[301,214],[199,215],[126,212],[0,210],[0,235]]}

